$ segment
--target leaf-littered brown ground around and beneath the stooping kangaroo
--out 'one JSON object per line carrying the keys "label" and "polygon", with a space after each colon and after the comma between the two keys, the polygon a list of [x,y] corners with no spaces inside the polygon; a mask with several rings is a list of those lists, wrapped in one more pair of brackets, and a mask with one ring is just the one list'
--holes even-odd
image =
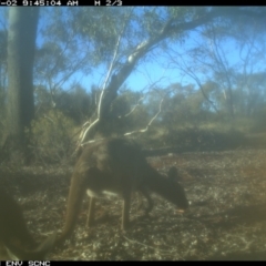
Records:
{"label": "leaf-littered brown ground around and beneath the stooping kangaroo", "polygon": [[[88,198],[75,232],[50,260],[266,260],[266,150],[168,153],[149,157],[161,173],[176,166],[190,211],[152,194],[143,217],[132,195],[131,228],[120,229],[122,201],[98,201],[98,222],[86,228]],[[13,192],[37,241],[63,227],[72,167],[1,166],[0,185]]]}

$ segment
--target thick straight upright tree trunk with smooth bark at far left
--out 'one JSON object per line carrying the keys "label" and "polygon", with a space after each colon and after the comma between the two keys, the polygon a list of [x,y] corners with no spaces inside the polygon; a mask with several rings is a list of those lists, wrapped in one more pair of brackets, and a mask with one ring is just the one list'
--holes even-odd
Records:
{"label": "thick straight upright tree trunk with smooth bark at far left", "polygon": [[[34,115],[33,60],[39,8],[11,8],[8,32],[9,152],[27,152],[25,127]],[[11,145],[11,146],[10,146]]]}

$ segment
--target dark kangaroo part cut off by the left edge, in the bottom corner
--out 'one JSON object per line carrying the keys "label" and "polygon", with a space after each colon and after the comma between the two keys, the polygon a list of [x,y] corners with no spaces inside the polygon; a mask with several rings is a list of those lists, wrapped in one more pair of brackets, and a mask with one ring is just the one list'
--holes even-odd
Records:
{"label": "dark kangaroo part cut off by the left edge, in the bottom corner", "polygon": [[6,257],[20,260],[44,259],[53,246],[55,235],[37,245],[27,228],[19,204],[3,187],[0,187],[0,243],[6,248]]}

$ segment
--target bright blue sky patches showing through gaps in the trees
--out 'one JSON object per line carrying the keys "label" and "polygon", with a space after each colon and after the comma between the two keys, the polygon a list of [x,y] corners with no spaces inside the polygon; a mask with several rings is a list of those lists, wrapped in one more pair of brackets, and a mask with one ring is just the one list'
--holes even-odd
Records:
{"label": "bright blue sky patches showing through gaps in the trees", "polygon": [[[0,8],[0,11],[2,11],[2,8]],[[41,21],[44,23],[44,21]],[[1,24],[0,24],[1,29]],[[37,42],[41,43],[40,35],[38,37]],[[143,40],[145,41],[145,40]],[[183,48],[180,47],[181,53],[184,54],[184,60],[187,60],[187,63],[190,64],[188,57],[186,55],[186,50],[192,48],[196,42],[201,42],[198,32],[191,31],[190,37],[185,40],[185,45]],[[203,41],[203,40],[202,40]],[[176,43],[171,43],[170,48],[176,48]],[[239,62],[239,50],[235,48],[234,42],[227,41],[224,43],[223,47],[224,51],[226,52],[226,58],[228,59],[228,64],[234,65],[236,62]],[[178,52],[180,52],[178,51]],[[154,59],[154,58],[153,58]],[[190,83],[195,84],[195,88],[197,88],[196,82],[190,78],[188,75],[184,75],[182,71],[180,71],[177,68],[175,69],[168,69],[166,66],[167,60],[165,54],[156,53],[155,60],[152,61],[145,61],[137,64],[135,70],[131,73],[131,75],[125,81],[125,84],[134,90],[143,90],[144,88],[156,83],[157,86],[165,88],[170,85],[171,83],[182,83],[183,85],[187,85]],[[101,86],[102,84],[102,73],[104,73],[104,70],[102,66],[99,66],[98,69],[94,69],[92,75],[85,76],[81,72],[76,72],[66,83],[65,88],[75,80],[81,83],[81,85],[84,89],[90,89],[92,85]],[[198,75],[201,80],[204,80],[204,75]]]}

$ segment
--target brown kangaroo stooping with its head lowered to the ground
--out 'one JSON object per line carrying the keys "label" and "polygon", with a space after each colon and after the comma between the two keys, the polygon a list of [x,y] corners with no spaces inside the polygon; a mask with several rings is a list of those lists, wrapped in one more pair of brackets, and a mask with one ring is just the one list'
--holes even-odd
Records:
{"label": "brown kangaroo stooping with its head lowered to the ground", "polygon": [[149,190],[182,209],[188,207],[183,187],[178,183],[165,180],[152,168],[133,141],[111,139],[86,146],[74,167],[66,203],[65,224],[57,243],[62,243],[72,234],[85,191],[91,197],[89,226],[93,222],[95,197],[111,192],[123,197],[122,229],[126,229],[130,222],[131,192],[140,191],[146,197],[147,214],[153,208]]}

